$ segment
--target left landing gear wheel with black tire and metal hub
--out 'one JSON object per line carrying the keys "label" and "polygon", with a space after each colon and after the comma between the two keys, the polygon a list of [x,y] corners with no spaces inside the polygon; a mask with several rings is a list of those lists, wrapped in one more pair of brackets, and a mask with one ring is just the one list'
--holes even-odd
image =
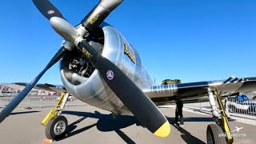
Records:
{"label": "left landing gear wheel with black tire and metal hub", "polygon": [[54,140],[56,137],[64,134],[67,129],[67,120],[62,115],[51,118],[46,125],[46,138]]}

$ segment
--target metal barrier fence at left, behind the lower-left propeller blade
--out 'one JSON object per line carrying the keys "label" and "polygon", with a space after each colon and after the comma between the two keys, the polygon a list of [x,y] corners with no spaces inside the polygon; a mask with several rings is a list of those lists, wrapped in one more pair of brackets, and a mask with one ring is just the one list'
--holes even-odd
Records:
{"label": "metal barrier fence at left, behind the lower-left propeller blade", "polygon": [[[14,97],[0,97],[0,108],[6,106]],[[57,98],[59,96],[28,96],[22,100],[18,107],[47,107],[55,106],[57,104]],[[82,102],[76,98],[72,98],[72,101],[66,102],[66,106],[78,106],[86,105],[85,102]]]}

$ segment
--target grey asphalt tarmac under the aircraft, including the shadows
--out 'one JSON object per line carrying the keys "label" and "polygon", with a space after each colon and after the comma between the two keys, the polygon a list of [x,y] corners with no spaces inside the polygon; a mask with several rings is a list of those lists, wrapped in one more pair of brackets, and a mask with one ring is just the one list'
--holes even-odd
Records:
{"label": "grey asphalt tarmac under the aircraft, including the shadows", "polygon": [[[0,124],[1,144],[37,144],[44,142],[45,127],[40,124],[50,108],[16,109]],[[174,122],[174,108],[161,108],[170,122]],[[185,126],[171,125],[167,138],[158,138],[142,126],[137,126],[133,116],[116,116],[94,106],[70,106],[64,111],[69,122],[69,133],[52,143],[206,143],[206,127],[214,123],[208,114],[184,111]],[[255,121],[256,122],[256,121]],[[139,125],[139,124],[138,124]],[[255,143],[256,127],[232,121],[230,129],[243,127],[234,132],[234,143]]]}

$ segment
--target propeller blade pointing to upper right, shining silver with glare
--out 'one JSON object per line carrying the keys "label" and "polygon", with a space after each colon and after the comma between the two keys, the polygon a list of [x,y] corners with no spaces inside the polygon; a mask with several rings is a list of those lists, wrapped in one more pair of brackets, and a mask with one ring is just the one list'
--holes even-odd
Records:
{"label": "propeller blade pointing to upper right, shining silver with glare", "polygon": [[82,19],[82,26],[84,26],[86,30],[94,30],[94,28],[99,26],[110,12],[119,6],[122,1],[123,0],[101,0],[98,2],[98,5]]}

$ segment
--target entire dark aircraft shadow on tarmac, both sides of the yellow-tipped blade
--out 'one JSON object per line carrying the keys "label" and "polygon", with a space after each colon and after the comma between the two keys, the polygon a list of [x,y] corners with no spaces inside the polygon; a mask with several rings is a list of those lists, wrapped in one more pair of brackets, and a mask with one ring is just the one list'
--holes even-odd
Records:
{"label": "entire dark aircraft shadow on tarmac, both sides of the yellow-tipped blade", "polygon": [[[133,124],[136,124],[137,126],[140,126],[139,122],[137,121],[134,116],[127,116],[127,115],[117,115],[115,116],[115,119],[112,118],[111,114],[101,114],[98,111],[95,111],[94,113],[88,113],[88,112],[81,112],[81,111],[63,111],[63,114],[71,114],[71,115],[77,115],[82,116],[82,118],[78,119],[76,122],[71,123],[68,126],[67,134],[64,136],[61,136],[57,138],[57,141],[61,141],[62,139],[69,138],[75,134],[82,133],[83,131],[89,130],[91,127],[96,126],[98,130],[100,131],[115,131],[126,143],[135,143],[131,138],[129,138],[126,134],[122,132],[122,128],[125,128],[127,126],[131,126]],[[83,127],[79,130],[76,129],[76,124],[79,122],[82,122],[86,118],[97,118],[98,122]],[[170,123],[174,122],[174,118],[167,118]],[[184,118],[185,122],[213,122],[212,118]],[[173,124],[172,124],[173,125]],[[174,126],[174,125],[173,125]],[[180,131],[182,139],[187,143],[205,143],[202,142],[200,139],[195,138],[193,135],[191,135],[188,131],[183,129],[179,126],[174,126],[178,131]]]}

